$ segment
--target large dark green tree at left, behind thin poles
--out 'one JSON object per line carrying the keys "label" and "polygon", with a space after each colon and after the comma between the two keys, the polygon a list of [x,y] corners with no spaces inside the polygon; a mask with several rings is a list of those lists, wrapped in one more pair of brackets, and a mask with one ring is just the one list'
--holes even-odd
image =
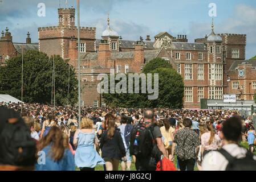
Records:
{"label": "large dark green tree at left, behind thin poles", "polygon": [[[27,51],[23,55],[23,101],[51,104],[52,70],[55,60],[55,104],[66,105],[68,95],[68,73],[70,68],[69,104],[78,101],[78,80],[75,70],[59,55],[48,57],[39,51]],[[0,68],[0,93],[10,94],[21,100],[22,56],[10,59],[6,67]]]}

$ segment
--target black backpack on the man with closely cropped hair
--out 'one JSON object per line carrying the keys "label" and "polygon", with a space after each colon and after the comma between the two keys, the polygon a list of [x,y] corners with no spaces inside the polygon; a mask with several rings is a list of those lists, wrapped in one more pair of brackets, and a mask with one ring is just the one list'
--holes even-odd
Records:
{"label": "black backpack on the man with closely cropped hair", "polygon": [[153,143],[151,134],[149,133],[149,128],[146,128],[141,124],[133,127],[130,139],[130,154],[139,158],[151,156],[152,148]]}

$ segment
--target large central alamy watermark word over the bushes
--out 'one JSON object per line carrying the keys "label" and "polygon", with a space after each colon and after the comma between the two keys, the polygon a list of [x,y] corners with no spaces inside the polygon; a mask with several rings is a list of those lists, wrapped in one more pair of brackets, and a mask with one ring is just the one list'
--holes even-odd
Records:
{"label": "large central alamy watermark word over the bushes", "polygon": [[[154,78],[153,80],[152,80],[152,75]],[[97,92],[100,94],[102,93],[146,94],[148,93],[149,94],[148,100],[157,100],[157,98],[159,97],[159,74],[158,73],[154,73],[154,74],[148,73],[147,75],[144,73],[141,73],[140,75],[137,73],[128,73],[128,78],[127,78],[127,75],[125,75],[124,73],[117,73],[116,75],[111,73],[110,76],[108,76],[105,73],[101,73],[97,76],[97,80],[98,81],[101,80],[101,82],[97,85]],[[116,83],[116,81],[119,81],[119,82]],[[134,81],[134,84],[133,84],[133,81]],[[127,85],[128,85],[128,90],[127,90]]]}

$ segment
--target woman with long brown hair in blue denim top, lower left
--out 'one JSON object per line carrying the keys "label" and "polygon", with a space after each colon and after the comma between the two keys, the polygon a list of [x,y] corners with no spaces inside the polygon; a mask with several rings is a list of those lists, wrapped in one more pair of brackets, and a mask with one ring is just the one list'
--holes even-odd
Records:
{"label": "woman with long brown hair in blue denim top, lower left", "polygon": [[58,127],[51,127],[38,149],[36,171],[75,171],[74,156],[64,146],[64,137]]}

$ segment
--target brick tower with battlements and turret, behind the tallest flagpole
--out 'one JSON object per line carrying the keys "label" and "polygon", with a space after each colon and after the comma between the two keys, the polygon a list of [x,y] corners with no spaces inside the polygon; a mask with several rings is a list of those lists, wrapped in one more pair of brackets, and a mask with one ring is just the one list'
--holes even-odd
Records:
{"label": "brick tower with battlements and turret, behind the tallest flagpole", "polygon": [[[70,63],[75,66],[78,39],[78,27],[75,26],[75,9],[58,9],[58,14],[58,26],[38,28],[39,51],[47,53],[48,56],[60,55],[63,59],[70,59]],[[95,51],[96,28],[80,27],[81,54]]]}

